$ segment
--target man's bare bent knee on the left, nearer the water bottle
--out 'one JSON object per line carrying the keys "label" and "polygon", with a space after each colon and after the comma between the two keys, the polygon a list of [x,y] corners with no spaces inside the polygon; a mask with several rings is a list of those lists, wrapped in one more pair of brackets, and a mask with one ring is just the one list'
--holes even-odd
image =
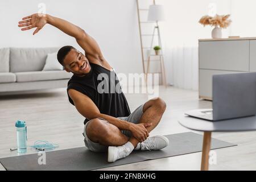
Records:
{"label": "man's bare bent knee on the left, nearer the water bottle", "polygon": [[108,122],[104,119],[91,119],[86,126],[86,135],[93,142],[99,143],[101,138],[107,138],[109,134]]}

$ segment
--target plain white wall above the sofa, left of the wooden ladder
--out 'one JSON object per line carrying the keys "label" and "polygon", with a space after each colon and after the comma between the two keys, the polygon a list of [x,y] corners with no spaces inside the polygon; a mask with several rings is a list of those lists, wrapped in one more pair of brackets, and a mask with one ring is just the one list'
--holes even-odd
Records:
{"label": "plain white wall above the sofa, left of the wooden ladder", "polygon": [[34,36],[34,30],[20,31],[19,20],[37,13],[41,2],[46,4],[47,14],[68,20],[93,36],[116,72],[142,73],[135,0],[0,1],[0,48],[65,45],[79,48],[75,39],[48,24]]}

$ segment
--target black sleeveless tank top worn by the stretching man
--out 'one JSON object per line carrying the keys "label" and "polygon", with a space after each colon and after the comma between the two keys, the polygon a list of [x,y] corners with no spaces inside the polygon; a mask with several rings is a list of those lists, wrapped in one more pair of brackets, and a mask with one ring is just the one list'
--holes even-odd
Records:
{"label": "black sleeveless tank top worn by the stretching man", "polygon": [[[75,89],[88,96],[98,107],[101,114],[112,117],[126,117],[130,112],[125,95],[119,85],[119,80],[114,71],[101,67],[101,65],[90,63],[90,72],[79,77],[73,75],[68,81],[68,89]],[[71,97],[68,100],[74,105]],[[84,124],[89,119],[85,118]]]}

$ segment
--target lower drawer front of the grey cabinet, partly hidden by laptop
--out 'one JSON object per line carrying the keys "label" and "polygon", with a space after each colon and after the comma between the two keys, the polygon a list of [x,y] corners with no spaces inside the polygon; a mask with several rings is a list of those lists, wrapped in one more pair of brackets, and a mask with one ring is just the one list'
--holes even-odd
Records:
{"label": "lower drawer front of the grey cabinet, partly hidden by laptop", "polygon": [[212,76],[228,73],[244,73],[199,69],[199,97],[212,99]]}

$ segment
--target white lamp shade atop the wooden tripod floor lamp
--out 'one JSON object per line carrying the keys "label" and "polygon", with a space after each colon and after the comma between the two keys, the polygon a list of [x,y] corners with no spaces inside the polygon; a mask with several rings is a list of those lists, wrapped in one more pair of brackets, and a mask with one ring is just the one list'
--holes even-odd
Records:
{"label": "white lamp shade atop the wooden tripod floor lamp", "polygon": [[164,7],[163,5],[150,5],[149,11],[148,11],[148,21],[164,21]]}

